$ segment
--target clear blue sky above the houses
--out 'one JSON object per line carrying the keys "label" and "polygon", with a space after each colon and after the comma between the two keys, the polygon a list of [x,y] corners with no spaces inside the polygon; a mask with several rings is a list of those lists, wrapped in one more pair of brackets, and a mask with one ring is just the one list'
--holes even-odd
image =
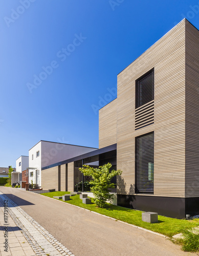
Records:
{"label": "clear blue sky above the houses", "polygon": [[184,17],[199,28],[198,13],[188,0],[1,0],[0,166],[39,140],[98,147],[117,74]]}

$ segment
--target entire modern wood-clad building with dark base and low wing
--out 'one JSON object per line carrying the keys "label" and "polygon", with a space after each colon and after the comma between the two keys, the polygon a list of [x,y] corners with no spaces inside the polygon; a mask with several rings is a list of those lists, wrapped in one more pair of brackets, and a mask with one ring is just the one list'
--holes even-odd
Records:
{"label": "entire modern wood-clad building with dark base and low wing", "polygon": [[122,170],[118,205],[199,214],[199,31],[182,20],[119,73],[117,88],[99,110],[99,150],[49,162],[43,188],[74,190],[82,163],[111,162]]}

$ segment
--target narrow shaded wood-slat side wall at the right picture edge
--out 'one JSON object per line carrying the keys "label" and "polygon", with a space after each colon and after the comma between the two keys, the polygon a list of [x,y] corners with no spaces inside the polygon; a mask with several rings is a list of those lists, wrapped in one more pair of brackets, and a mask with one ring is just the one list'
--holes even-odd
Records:
{"label": "narrow shaded wood-slat side wall at the right picture edge", "polygon": [[186,197],[199,197],[199,31],[186,20]]}

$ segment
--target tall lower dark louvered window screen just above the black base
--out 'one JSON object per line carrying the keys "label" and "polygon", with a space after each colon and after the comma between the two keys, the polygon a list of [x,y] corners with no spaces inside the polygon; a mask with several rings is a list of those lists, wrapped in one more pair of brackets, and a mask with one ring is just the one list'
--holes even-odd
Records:
{"label": "tall lower dark louvered window screen just above the black base", "polygon": [[136,193],[153,194],[154,133],[136,138]]}

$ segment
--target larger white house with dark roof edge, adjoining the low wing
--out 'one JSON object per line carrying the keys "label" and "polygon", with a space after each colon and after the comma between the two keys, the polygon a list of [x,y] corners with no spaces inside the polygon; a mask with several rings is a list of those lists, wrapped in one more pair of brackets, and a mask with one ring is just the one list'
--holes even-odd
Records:
{"label": "larger white house with dark roof edge, adjoining the low wing", "polygon": [[94,150],[96,148],[40,140],[29,150],[29,183],[33,181],[42,186],[41,168]]}

